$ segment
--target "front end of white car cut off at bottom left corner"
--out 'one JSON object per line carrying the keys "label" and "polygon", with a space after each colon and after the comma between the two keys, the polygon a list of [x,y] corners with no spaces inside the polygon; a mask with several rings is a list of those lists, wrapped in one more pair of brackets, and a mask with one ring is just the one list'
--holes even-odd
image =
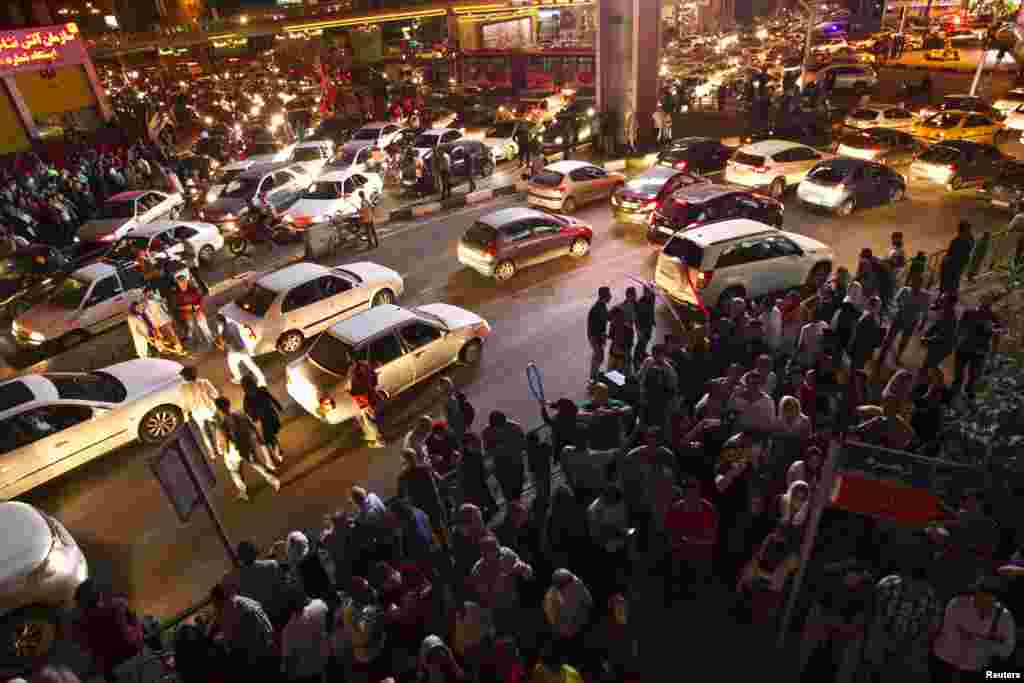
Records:
{"label": "front end of white car cut off at bottom left corner", "polygon": [[16,676],[53,651],[89,563],[63,524],[28,503],[0,503],[0,676]]}

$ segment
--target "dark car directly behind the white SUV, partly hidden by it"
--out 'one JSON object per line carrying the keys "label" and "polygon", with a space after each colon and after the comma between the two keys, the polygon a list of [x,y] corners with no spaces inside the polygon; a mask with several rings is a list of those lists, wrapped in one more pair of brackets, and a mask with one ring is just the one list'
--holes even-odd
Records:
{"label": "dark car directly behind the white SUV, partly hidden by it", "polygon": [[650,214],[647,242],[662,244],[673,234],[729,218],[749,218],[782,227],[784,211],[778,200],[738,185],[687,185],[673,193]]}

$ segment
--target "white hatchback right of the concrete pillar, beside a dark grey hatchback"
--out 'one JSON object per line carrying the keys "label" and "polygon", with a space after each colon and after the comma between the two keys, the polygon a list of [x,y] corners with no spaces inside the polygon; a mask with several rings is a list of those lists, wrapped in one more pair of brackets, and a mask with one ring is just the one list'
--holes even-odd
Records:
{"label": "white hatchback right of the concrete pillar, beside a dark grey hatchback", "polygon": [[725,181],[744,187],[765,188],[775,199],[797,185],[815,164],[835,155],[800,142],[763,140],[736,151],[725,166]]}

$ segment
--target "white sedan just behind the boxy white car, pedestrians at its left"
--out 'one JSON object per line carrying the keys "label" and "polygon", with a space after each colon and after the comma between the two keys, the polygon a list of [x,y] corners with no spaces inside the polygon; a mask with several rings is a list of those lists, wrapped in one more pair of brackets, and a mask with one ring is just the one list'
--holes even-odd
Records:
{"label": "white sedan just behind the boxy white car, pedestrians at its left", "polygon": [[220,312],[245,327],[257,354],[289,354],[338,321],[394,303],[404,289],[401,275],[376,263],[302,262],[263,275]]}

